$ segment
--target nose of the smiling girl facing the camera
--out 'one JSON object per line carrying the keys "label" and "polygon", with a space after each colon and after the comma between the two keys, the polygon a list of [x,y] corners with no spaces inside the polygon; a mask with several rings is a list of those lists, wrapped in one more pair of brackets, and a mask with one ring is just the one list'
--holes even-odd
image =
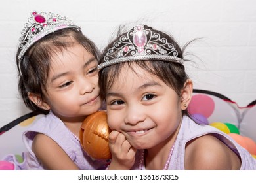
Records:
{"label": "nose of the smiling girl facing the camera", "polygon": [[133,105],[127,108],[125,114],[125,124],[136,125],[140,122],[144,122],[146,114],[140,105]]}

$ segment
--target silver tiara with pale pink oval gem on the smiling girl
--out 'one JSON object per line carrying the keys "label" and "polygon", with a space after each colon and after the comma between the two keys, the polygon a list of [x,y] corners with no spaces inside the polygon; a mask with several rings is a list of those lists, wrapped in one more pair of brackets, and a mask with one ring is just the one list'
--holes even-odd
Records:
{"label": "silver tiara with pale pink oval gem on the smiling girl", "polygon": [[109,48],[98,69],[136,60],[163,60],[183,64],[184,60],[178,57],[175,46],[161,37],[159,33],[152,33],[144,29],[144,25],[136,25],[133,29],[122,35],[113,47]]}

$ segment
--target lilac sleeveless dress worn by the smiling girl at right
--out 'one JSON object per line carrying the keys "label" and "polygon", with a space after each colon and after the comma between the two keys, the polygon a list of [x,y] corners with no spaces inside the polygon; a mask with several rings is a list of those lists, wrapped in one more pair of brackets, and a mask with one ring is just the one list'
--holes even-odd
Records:
{"label": "lilac sleeveless dress worn by the smiling girl at right", "polygon": [[[177,139],[175,142],[175,146],[173,149],[173,154],[171,156],[171,161],[169,163],[169,170],[184,170],[184,161],[185,161],[185,146],[186,143],[192,139],[200,137],[206,134],[213,134],[215,137],[220,139],[226,144],[229,148],[231,148],[242,161],[241,170],[249,170],[256,169],[256,159],[247,152],[244,148],[242,148],[238,143],[236,143],[229,135],[219,131],[215,127],[211,127],[210,125],[198,125],[193,120],[188,118],[188,116],[184,116],[182,119],[181,128],[177,135]],[[145,169],[144,163],[140,166],[140,157],[142,154],[142,150],[138,150],[135,159],[135,165],[132,169]]]}

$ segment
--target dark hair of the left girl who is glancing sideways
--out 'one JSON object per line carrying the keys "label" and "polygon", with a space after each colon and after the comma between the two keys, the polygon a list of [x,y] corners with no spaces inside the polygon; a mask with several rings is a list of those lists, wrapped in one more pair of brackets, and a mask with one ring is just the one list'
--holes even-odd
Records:
{"label": "dark hair of the left girl who is glancing sideways", "polygon": [[[62,52],[72,46],[75,43],[74,41],[98,59],[99,52],[95,44],[85,37],[81,31],[74,28],[60,29],[39,39],[24,54],[20,63],[20,71],[22,73],[18,75],[18,88],[25,105],[32,111],[44,114],[49,112],[37,107],[37,105],[30,101],[28,92],[38,94],[41,96],[41,99],[44,99],[43,92],[46,92],[51,57],[56,52]],[[19,67],[18,54],[20,51],[20,48],[18,48],[16,54],[17,67]]]}

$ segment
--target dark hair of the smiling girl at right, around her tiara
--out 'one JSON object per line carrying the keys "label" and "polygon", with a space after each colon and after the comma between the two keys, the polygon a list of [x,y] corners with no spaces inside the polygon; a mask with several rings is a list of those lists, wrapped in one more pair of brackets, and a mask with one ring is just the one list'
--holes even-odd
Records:
{"label": "dark hair of the smiling girl at right, around her tiara", "polygon": [[[147,25],[144,25],[145,29],[150,29],[152,33],[159,33],[161,37],[165,37],[167,39],[167,42],[173,44],[173,46],[177,50],[177,56],[181,59],[184,55],[184,49],[182,50],[179,44],[173,39],[171,35],[168,35],[167,33],[164,33],[162,31],[158,31],[156,29],[153,29],[152,27],[148,27]],[[108,46],[103,50],[101,56],[100,56],[100,63],[104,62],[104,56],[108,52],[109,48],[112,48],[114,42],[118,41],[119,38],[122,35],[126,35],[125,33],[119,33],[116,39],[114,41],[110,42]],[[120,46],[121,47],[121,46]],[[186,46],[184,46],[185,48]],[[130,56],[130,55],[127,55]],[[184,84],[186,80],[188,79],[188,75],[186,74],[184,65],[181,65],[180,63],[176,62],[170,62],[170,61],[150,61],[148,60],[139,60],[139,61],[127,61],[123,63],[117,63],[114,65],[110,65],[108,67],[105,67],[104,69],[101,69],[99,71],[99,86],[100,86],[100,96],[102,99],[106,97],[106,90],[111,88],[112,84],[114,84],[116,78],[118,78],[118,75],[120,73],[121,67],[123,65],[128,66],[129,68],[133,69],[133,64],[138,65],[140,68],[148,71],[149,73],[156,75],[158,78],[163,80],[167,86],[170,86],[175,90],[175,92],[181,97],[181,90],[184,87]],[[187,110],[184,111],[184,114],[188,114]]]}

